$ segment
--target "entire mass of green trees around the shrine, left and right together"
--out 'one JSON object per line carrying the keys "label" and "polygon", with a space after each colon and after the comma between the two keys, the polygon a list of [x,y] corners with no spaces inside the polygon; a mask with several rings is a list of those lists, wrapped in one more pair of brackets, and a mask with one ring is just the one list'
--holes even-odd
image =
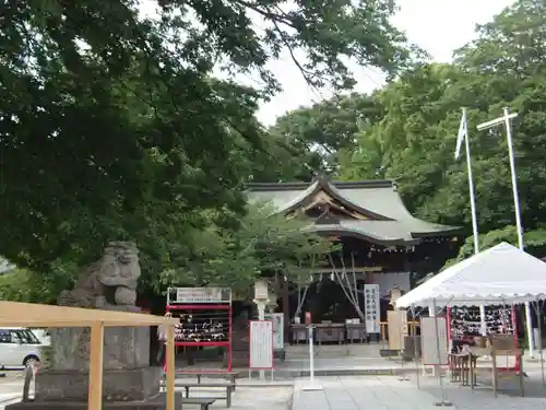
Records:
{"label": "entire mass of green trees around the shrine, left and right together", "polygon": [[[108,239],[138,243],[143,291],[244,290],[328,251],[300,222],[245,207],[248,180],[393,178],[416,215],[470,233],[453,159],[463,106],[482,246],[514,242],[505,131],[475,129],[510,106],[525,238],[544,250],[546,0],[517,1],[449,65],[412,60],[390,0],[287,3],[161,0],[154,19],[133,0],[0,5],[0,255],[24,268],[0,278],[1,297],[55,300]],[[264,129],[256,112],[278,91],[268,62],[283,52],[313,86],[351,90],[347,57],[394,80]],[[460,258],[471,251],[468,239]]]}

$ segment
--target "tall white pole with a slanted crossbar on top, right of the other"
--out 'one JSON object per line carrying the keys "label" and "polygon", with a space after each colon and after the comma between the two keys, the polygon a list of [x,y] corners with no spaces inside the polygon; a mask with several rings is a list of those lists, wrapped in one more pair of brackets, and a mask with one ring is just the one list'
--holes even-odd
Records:
{"label": "tall white pole with a slanted crossbar on top, right of the other", "polygon": [[[518,176],[515,174],[515,160],[513,153],[513,143],[512,143],[512,127],[510,120],[512,118],[518,117],[518,113],[510,114],[510,108],[505,107],[503,116],[499,118],[495,118],[490,121],[478,125],[477,129],[484,130],[487,128],[497,127],[501,124],[505,125],[507,129],[507,142],[508,142],[508,156],[510,161],[510,174],[512,177],[512,194],[513,194],[513,203],[515,210],[515,230],[518,232],[518,246],[521,250],[524,250],[523,243],[523,226],[521,223],[521,211],[520,211],[520,196],[518,195]],[[529,340],[529,355],[530,358],[534,356],[534,335],[533,335],[533,324],[531,323],[531,306],[530,303],[525,303],[525,321],[527,328],[527,340]]]}

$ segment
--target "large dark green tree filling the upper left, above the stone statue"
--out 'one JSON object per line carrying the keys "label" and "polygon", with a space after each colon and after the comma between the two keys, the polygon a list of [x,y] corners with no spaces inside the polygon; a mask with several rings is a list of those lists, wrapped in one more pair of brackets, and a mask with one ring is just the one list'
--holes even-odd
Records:
{"label": "large dark green tree filling the upper left, above the stone statue", "polygon": [[66,267],[109,239],[138,243],[144,288],[191,277],[189,261],[219,246],[201,268],[217,271],[235,255],[223,246],[245,218],[242,185],[289,155],[254,117],[278,91],[268,62],[288,52],[310,84],[342,90],[347,58],[394,74],[410,56],[390,0],[145,5],[156,15],[136,0],[0,5],[0,255],[36,285],[69,286]]}

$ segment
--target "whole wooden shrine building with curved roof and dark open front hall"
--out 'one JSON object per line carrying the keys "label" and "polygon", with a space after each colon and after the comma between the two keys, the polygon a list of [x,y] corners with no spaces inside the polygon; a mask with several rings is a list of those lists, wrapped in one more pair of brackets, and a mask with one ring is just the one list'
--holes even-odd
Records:
{"label": "whole wooden shrine building with curved roof and dark open front hall", "polygon": [[[380,321],[392,308],[391,294],[407,292],[415,279],[438,271],[459,251],[460,229],[413,216],[392,180],[318,177],[311,183],[249,184],[247,196],[250,203],[269,202],[286,216],[305,213],[314,232],[341,245],[309,267],[308,285],[284,281],[276,312],[284,314],[286,341],[298,342],[294,329],[306,313],[313,324],[341,328],[358,323],[368,335],[379,335]],[[370,302],[376,291],[377,303]],[[344,336],[331,330],[322,341],[352,338],[346,329]]]}

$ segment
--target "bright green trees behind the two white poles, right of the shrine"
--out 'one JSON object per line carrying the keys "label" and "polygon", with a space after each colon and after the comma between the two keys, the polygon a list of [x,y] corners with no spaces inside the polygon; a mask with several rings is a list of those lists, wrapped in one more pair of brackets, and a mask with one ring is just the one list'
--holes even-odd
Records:
{"label": "bright green trees behind the two white poles, right of the shrine", "polygon": [[[544,251],[545,11],[544,0],[520,0],[479,26],[477,39],[459,49],[453,63],[416,65],[372,95],[335,97],[288,113],[273,131],[293,136],[296,147],[305,141],[333,148],[335,155],[310,164],[328,166],[334,177],[397,179],[416,215],[466,226],[470,234],[466,164],[464,155],[453,157],[461,107],[467,107],[482,246],[517,245],[510,234],[515,216],[505,129],[476,130],[509,106],[519,113],[513,140],[527,245]],[[460,256],[467,254],[465,246]]]}

